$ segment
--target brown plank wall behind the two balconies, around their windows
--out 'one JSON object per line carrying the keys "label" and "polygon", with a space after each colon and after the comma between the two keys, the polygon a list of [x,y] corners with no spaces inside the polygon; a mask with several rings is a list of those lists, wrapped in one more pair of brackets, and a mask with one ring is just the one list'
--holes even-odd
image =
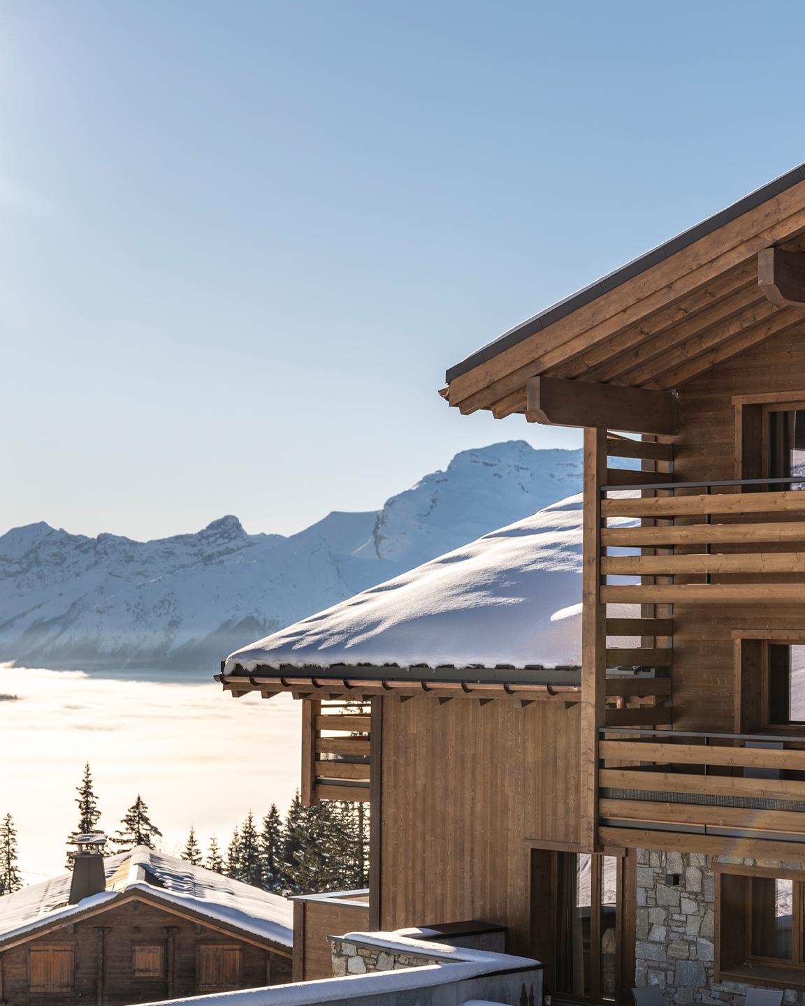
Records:
{"label": "brown plank wall behind the two balconies, around their windows", "polygon": [[[749,353],[719,364],[678,390],[679,435],[674,441],[674,478],[683,482],[740,478],[736,459],[736,410],[732,398],[780,391],[805,393],[803,333],[795,330],[771,339]],[[764,547],[767,551],[773,549],[773,546]],[[676,729],[727,732],[735,729],[736,661],[732,631],[764,627],[805,628],[805,608],[797,605],[675,606],[673,707]]]}

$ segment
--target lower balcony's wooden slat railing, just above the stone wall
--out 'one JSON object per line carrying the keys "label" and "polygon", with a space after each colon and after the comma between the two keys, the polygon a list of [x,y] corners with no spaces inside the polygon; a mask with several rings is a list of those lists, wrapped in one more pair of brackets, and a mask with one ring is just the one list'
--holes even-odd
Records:
{"label": "lower balcony's wooden slat railing, just above the stone wall", "polygon": [[602,728],[602,828],[805,843],[805,734]]}

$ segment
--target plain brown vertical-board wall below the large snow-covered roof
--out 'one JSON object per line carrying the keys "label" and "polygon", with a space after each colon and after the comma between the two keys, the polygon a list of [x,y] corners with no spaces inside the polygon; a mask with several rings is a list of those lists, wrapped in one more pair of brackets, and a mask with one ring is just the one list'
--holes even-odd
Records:
{"label": "plain brown vertical-board wall below the large snow-covered roof", "polygon": [[579,841],[579,705],[382,700],[380,926],[482,918],[528,947],[528,839]]}

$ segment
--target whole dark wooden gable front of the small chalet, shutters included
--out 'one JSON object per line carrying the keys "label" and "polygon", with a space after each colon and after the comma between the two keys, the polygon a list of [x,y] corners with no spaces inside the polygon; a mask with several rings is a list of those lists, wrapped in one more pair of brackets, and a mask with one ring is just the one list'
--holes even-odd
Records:
{"label": "whole dark wooden gable front of the small chalet, shutters included", "polygon": [[141,897],[0,947],[7,1006],[128,1006],[291,980],[291,953]]}

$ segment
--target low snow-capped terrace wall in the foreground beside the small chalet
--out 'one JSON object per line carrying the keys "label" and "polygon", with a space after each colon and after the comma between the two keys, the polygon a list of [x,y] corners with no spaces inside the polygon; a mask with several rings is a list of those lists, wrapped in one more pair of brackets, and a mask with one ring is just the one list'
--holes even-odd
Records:
{"label": "low snow-capped terrace wall in the foreground beside the small chalet", "polygon": [[[347,933],[339,939],[376,947],[397,960],[410,955],[434,963],[169,1002],[177,1006],[179,1003],[182,1006],[313,1006],[318,1003],[328,1006],[463,1006],[470,1000],[479,999],[505,1006],[531,1006],[541,1002],[542,966],[530,958],[412,940],[398,933]],[[167,1002],[151,1006],[167,1006]]]}

